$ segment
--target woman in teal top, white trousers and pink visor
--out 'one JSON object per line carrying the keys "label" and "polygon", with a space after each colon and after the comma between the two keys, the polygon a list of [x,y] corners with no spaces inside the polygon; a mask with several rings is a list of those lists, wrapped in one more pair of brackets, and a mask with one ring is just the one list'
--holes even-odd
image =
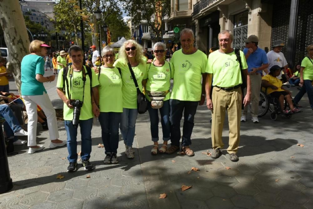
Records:
{"label": "woman in teal top, white trousers and pink visor", "polygon": [[43,41],[33,40],[29,45],[30,54],[23,57],[21,63],[21,93],[28,114],[28,154],[44,149],[43,145],[37,146],[37,105],[47,117],[50,136],[50,148],[63,146],[66,141],[59,140],[58,124],[55,110],[44,88],[44,82],[54,81],[55,75],[44,77],[44,56],[50,48]]}

